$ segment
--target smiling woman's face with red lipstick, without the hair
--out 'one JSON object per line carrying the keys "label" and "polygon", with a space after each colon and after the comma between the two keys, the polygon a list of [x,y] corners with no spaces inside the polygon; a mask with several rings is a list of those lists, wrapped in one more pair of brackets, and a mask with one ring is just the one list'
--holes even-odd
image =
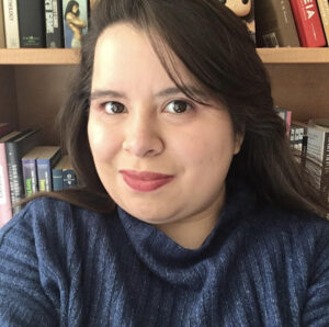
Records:
{"label": "smiling woman's face with red lipstick, without the hair", "polygon": [[[195,86],[177,60],[185,84]],[[226,108],[186,98],[147,36],[107,27],[94,57],[88,137],[99,177],[125,211],[151,224],[218,214],[239,151]],[[205,95],[206,97],[206,95]]]}

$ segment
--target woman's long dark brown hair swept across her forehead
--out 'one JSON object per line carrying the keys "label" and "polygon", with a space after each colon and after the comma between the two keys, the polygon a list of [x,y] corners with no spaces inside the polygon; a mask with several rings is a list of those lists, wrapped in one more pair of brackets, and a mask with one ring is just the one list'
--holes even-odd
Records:
{"label": "woman's long dark brown hair swept across her forehead", "polygon": [[236,133],[245,135],[229,177],[243,179],[259,203],[325,214],[319,192],[293,158],[285,125],[273,111],[270,81],[254,43],[240,19],[218,0],[98,1],[72,90],[59,116],[65,147],[82,185],[53,196],[95,211],[113,207],[94,167],[87,123],[95,43],[116,22],[147,33],[169,77],[188,97],[201,102],[182,82],[170,50],[201,88],[225,101]]}

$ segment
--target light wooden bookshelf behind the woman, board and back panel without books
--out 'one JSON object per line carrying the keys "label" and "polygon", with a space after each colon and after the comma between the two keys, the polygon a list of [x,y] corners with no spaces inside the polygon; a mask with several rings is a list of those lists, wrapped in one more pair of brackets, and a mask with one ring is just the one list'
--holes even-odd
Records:
{"label": "light wooden bookshelf behind the woman, board and back panel without books", "polygon": [[[275,104],[295,120],[329,119],[329,48],[259,48]],[[79,61],[73,49],[0,49],[0,121],[16,128],[43,127],[58,144],[56,114]]]}

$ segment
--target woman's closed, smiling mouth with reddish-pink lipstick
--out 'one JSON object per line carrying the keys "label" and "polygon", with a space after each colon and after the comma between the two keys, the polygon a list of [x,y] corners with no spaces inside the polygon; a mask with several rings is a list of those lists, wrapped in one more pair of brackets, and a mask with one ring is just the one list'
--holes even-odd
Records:
{"label": "woman's closed, smiling mouth with reddish-pink lipstick", "polygon": [[135,171],[135,170],[120,170],[125,183],[138,192],[155,191],[173,180],[172,174],[163,174],[151,171]]}

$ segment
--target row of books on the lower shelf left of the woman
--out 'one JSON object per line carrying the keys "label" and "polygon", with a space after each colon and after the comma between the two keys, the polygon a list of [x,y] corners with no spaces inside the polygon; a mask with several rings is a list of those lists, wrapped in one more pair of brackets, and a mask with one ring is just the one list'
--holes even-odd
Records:
{"label": "row of books on the lower shelf left of the woman", "polygon": [[68,156],[58,146],[42,146],[41,129],[12,131],[0,124],[0,227],[20,211],[25,196],[77,184]]}

